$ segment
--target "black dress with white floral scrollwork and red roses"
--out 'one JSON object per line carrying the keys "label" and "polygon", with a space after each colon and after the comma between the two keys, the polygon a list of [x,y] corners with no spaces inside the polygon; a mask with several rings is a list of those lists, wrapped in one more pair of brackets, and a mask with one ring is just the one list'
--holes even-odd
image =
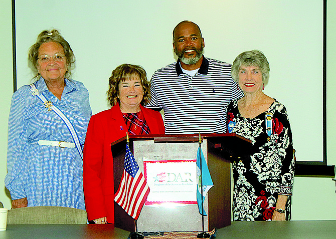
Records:
{"label": "black dress with white floral scrollwork and red roses", "polygon": [[[266,131],[266,113],[272,115],[271,132]],[[286,108],[275,100],[267,112],[250,119],[240,115],[234,100],[228,105],[230,121],[236,123],[232,132],[253,145],[250,157],[232,163],[233,219],[271,220],[278,194],[288,195],[286,219],[290,219],[295,158]]]}

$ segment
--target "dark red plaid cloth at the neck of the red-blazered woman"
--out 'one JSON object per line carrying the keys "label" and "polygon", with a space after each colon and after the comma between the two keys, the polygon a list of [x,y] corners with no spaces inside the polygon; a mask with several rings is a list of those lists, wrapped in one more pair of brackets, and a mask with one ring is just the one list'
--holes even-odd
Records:
{"label": "dark red plaid cloth at the neck of the red-blazered woman", "polygon": [[141,111],[137,113],[122,113],[128,132],[133,135],[149,134],[149,127]]}

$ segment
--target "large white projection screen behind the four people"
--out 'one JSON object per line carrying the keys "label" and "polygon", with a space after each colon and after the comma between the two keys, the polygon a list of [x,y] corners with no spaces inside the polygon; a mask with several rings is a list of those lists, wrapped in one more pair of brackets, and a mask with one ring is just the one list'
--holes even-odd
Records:
{"label": "large white projection screen behind the four people", "polygon": [[[55,27],[74,50],[77,66],[73,79],[88,88],[93,113],[105,110],[112,70],[122,63],[138,64],[150,78],[155,70],[175,61],[172,31],[179,22],[191,20],[202,30],[206,57],[232,63],[243,51],[264,52],[271,68],[265,93],[286,106],[297,160],[323,161],[319,123],[322,122],[322,3],[320,0],[310,0],[309,4],[306,0],[105,0],[83,4],[58,0],[55,4],[51,0],[16,0],[18,86],[27,84],[31,78],[27,67],[29,47],[43,29]],[[309,71],[309,79],[304,71]],[[302,101],[306,96],[309,101]],[[314,117],[311,112],[315,112]]]}

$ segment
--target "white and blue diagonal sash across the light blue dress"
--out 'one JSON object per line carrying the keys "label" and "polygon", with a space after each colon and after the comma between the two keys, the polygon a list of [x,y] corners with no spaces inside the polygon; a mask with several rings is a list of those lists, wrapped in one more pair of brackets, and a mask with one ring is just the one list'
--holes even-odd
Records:
{"label": "white and blue diagonal sash across the light blue dress", "polygon": [[39,97],[39,99],[43,102],[43,104],[48,109],[48,111],[53,110],[64,121],[64,123],[66,124],[66,126],[68,127],[70,131],[72,138],[74,139],[78,153],[83,160],[83,150],[82,150],[78,135],[73,125],[71,124],[70,120],[68,119],[68,117],[59,108],[53,105],[53,102],[48,101],[46,97],[44,97],[44,95],[40,94],[39,90],[36,88],[34,84],[30,84],[29,86],[32,88],[31,90],[32,95],[36,95],[37,97]]}

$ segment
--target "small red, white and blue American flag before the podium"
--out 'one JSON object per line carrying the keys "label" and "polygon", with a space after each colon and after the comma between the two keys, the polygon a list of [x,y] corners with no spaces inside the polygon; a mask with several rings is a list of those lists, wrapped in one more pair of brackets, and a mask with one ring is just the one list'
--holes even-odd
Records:
{"label": "small red, white and blue American flag before the podium", "polygon": [[147,199],[149,187],[136,163],[134,156],[126,144],[126,155],[124,171],[117,192],[114,194],[114,201],[118,203],[128,215],[135,220]]}

